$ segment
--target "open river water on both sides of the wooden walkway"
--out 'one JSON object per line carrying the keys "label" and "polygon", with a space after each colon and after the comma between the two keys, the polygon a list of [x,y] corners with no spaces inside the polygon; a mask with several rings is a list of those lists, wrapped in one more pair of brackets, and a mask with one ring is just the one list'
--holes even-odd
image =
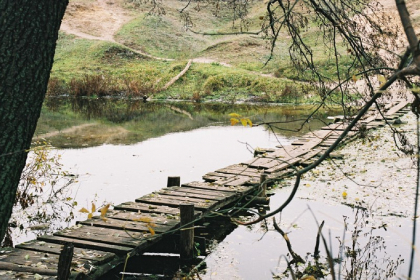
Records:
{"label": "open river water on both sides of the wooden walkway", "polygon": [[[312,108],[50,100],[43,108],[37,134],[56,147],[63,170],[78,176],[78,182],[71,187],[78,202],[76,209],[90,209],[92,202],[102,205],[133,201],[165,187],[171,175],[181,176],[181,183],[200,181],[209,171],[251,159],[256,147],[287,145],[308,129],[321,127],[328,115],[336,114],[322,109],[316,116],[321,121],[311,120],[303,130],[291,132],[301,122],[289,121],[306,118]],[[271,130],[266,125],[231,126],[229,113],[250,117],[253,122],[285,121],[279,126],[286,130]],[[272,208],[280,205],[289,191],[278,189],[274,193]],[[326,220],[323,232],[327,240],[331,238],[336,256],[336,237],[347,232],[344,240],[346,244],[351,242],[351,232],[344,230],[342,217],[347,216],[352,221],[354,210],[343,205],[295,199],[283,211],[280,225],[289,232],[294,250],[302,257],[313,251],[318,229],[308,207],[318,221]],[[83,214],[76,213],[76,219],[84,218]],[[280,216],[276,218],[279,220]],[[411,227],[410,221],[404,223],[405,227]],[[286,243],[272,226],[269,225],[268,232],[263,225],[222,224],[222,227],[231,228],[224,240],[215,241],[200,268],[202,279],[273,279],[273,275],[284,271],[286,262],[282,256],[288,253]],[[374,235],[385,239],[386,252],[394,259],[399,254],[407,258],[410,245],[408,236],[401,230],[377,229]],[[369,237],[361,237],[360,241],[367,239]],[[325,250],[321,251],[325,255]],[[406,264],[400,266],[404,271],[399,270],[399,275],[406,275],[406,267]]]}

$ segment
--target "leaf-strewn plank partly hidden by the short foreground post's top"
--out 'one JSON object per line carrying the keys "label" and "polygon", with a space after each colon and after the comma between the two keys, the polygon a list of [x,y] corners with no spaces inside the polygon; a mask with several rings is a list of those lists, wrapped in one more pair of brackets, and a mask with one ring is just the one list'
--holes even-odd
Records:
{"label": "leaf-strewn plank partly hidden by the short foreground post's top", "polygon": [[[44,241],[38,241],[38,240],[31,240],[28,242],[24,242],[21,244],[16,245],[16,248],[25,249],[25,250],[32,250],[37,252],[43,252],[48,254],[60,254],[60,250],[62,249],[63,245],[60,244],[54,244]],[[105,262],[108,262],[112,259],[114,259],[115,254],[104,252],[104,251],[98,251],[98,250],[84,250],[81,248],[75,248],[74,249],[74,255],[73,259],[79,260],[79,259],[85,259],[89,261],[93,261],[97,264],[103,264]]]}

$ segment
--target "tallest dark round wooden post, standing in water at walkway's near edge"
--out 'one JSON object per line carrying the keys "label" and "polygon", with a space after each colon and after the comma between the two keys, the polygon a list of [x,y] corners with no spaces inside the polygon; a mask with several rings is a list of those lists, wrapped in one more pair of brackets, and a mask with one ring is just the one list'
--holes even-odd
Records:
{"label": "tallest dark round wooden post, standing in water at walkway's near edge", "polygon": [[[181,208],[181,237],[179,253],[181,259],[194,258],[194,203],[180,204]],[[187,228],[187,229],[185,229]]]}

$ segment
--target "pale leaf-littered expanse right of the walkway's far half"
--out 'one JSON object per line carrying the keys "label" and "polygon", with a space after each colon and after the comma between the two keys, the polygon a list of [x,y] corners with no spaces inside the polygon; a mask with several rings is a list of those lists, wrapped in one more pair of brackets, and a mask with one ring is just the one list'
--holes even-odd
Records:
{"label": "pale leaf-littered expanse right of the walkway's far half", "polygon": [[[416,145],[416,117],[410,112],[401,120],[406,123],[396,128]],[[337,152],[343,159],[326,160],[303,176],[297,198],[367,209],[376,217],[372,227],[399,226],[405,220],[401,218],[413,216],[415,159],[397,149],[389,126],[371,130],[367,138]],[[292,183],[293,179],[281,182],[278,192],[290,192]]]}

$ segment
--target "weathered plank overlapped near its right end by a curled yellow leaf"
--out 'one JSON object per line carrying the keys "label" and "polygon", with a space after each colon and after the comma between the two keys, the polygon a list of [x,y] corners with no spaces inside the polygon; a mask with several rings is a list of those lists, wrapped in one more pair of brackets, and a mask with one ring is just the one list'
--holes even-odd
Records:
{"label": "weathered plank overlapped near its right end by a curled yellow leaf", "polygon": [[[144,219],[144,218],[143,218]],[[100,219],[88,219],[85,221],[78,222],[78,224],[86,225],[86,226],[93,226],[93,227],[101,227],[105,229],[117,229],[117,230],[127,230],[129,232],[149,232],[149,226],[158,234],[158,233],[165,233],[175,226],[166,226],[155,224],[153,219],[149,223],[140,222],[140,221],[123,221],[118,219],[107,218],[106,221]]]}

